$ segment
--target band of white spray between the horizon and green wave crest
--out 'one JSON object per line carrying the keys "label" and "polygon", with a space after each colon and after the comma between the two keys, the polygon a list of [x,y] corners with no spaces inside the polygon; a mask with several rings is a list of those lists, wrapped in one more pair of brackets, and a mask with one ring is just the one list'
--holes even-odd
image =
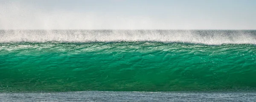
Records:
{"label": "band of white spray between the horizon and green wave crest", "polygon": [[0,30],[0,36],[0,43],[156,41],[256,44],[256,30]]}

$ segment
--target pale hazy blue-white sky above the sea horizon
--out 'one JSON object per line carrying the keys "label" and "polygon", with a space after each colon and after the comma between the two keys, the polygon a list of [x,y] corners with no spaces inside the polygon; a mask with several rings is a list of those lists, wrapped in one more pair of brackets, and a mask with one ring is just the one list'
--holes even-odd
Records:
{"label": "pale hazy blue-white sky above the sea horizon", "polygon": [[0,29],[256,29],[256,0],[0,0]]}

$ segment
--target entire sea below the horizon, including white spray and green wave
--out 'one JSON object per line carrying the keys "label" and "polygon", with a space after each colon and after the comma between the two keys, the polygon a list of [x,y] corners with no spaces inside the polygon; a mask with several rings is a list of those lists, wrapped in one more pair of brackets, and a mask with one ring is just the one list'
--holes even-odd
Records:
{"label": "entire sea below the horizon, including white spray and green wave", "polygon": [[256,30],[0,30],[3,101],[253,101],[255,77]]}

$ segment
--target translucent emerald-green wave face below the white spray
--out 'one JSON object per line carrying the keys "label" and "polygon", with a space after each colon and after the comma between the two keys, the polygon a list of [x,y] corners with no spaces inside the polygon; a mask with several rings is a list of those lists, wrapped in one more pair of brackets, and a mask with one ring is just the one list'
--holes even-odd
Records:
{"label": "translucent emerald-green wave face below the white spray", "polygon": [[252,44],[1,43],[0,91],[256,88]]}

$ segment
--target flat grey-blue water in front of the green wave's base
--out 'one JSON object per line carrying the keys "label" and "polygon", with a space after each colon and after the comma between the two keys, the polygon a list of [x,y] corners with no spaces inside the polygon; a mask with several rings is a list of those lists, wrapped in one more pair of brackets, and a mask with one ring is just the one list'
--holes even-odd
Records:
{"label": "flat grey-blue water in front of the green wave's base", "polygon": [[0,93],[1,102],[255,102],[255,92],[113,92]]}

